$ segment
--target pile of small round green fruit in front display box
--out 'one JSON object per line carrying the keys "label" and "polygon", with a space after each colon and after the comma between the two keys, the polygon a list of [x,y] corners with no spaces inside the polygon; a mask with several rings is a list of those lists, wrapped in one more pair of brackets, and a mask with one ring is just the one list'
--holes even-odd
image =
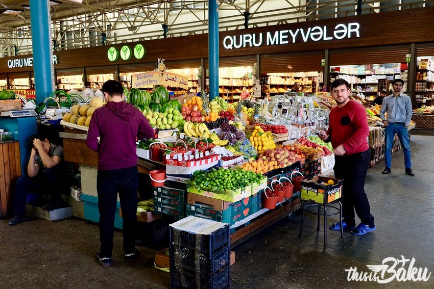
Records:
{"label": "pile of small round green fruit in front display box", "polygon": [[260,183],[261,174],[243,169],[212,169],[209,172],[196,171],[191,176],[187,186],[193,186],[210,192],[225,192],[227,190],[243,189],[256,182]]}

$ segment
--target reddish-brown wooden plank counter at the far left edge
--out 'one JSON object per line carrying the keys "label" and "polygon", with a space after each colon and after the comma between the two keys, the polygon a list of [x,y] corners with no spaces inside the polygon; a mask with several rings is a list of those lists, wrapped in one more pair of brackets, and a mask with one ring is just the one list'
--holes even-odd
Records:
{"label": "reddish-brown wooden plank counter at the far left edge", "polygon": [[2,218],[12,215],[12,188],[20,176],[19,142],[0,142],[0,217]]}

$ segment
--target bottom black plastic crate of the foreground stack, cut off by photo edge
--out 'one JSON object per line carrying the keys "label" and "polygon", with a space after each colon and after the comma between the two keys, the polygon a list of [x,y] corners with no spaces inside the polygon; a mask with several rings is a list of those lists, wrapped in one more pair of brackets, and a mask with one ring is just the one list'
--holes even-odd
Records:
{"label": "bottom black plastic crate of the foreground stack, cut off by photo edge", "polygon": [[[196,277],[196,271],[182,269],[173,270],[171,267],[171,289],[229,289],[230,267],[209,279]],[[200,282],[200,284],[198,284]]]}

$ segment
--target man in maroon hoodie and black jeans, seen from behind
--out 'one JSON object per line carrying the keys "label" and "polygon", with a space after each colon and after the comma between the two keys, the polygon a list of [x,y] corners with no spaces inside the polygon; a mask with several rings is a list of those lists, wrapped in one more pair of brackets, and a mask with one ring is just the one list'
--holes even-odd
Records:
{"label": "man in maroon hoodie and black jeans, seen from behind", "polygon": [[151,139],[154,129],[138,109],[123,101],[124,91],[120,82],[109,80],[102,90],[107,104],[93,113],[86,145],[98,152],[101,252],[95,255],[95,260],[101,266],[108,267],[112,265],[117,193],[122,209],[125,261],[134,261],[139,256],[140,252],[135,248],[138,189],[136,138]]}

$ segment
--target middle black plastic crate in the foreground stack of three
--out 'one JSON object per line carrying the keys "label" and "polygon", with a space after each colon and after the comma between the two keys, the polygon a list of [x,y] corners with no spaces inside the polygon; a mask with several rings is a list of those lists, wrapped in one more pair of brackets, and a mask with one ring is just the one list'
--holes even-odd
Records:
{"label": "middle black plastic crate in the foreground stack of three", "polygon": [[210,258],[197,253],[195,248],[170,249],[170,263],[174,270],[195,270],[200,278],[209,279],[230,267],[230,248],[226,247]]}

